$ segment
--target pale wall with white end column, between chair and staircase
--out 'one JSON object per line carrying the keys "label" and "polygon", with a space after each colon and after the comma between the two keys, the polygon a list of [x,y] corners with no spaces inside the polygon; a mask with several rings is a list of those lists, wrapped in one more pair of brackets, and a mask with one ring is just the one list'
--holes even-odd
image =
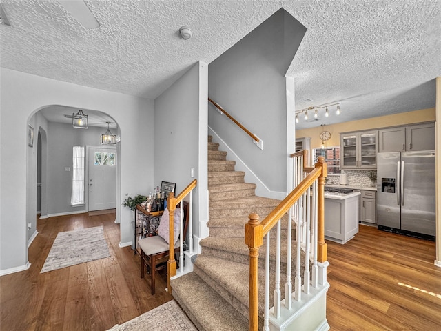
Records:
{"label": "pale wall with white end column, between chair and staircase", "polygon": [[[198,62],[154,101],[154,182],[176,183],[179,194],[198,180],[193,217],[207,221],[207,64]],[[193,233],[200,237],[199,225]]]}

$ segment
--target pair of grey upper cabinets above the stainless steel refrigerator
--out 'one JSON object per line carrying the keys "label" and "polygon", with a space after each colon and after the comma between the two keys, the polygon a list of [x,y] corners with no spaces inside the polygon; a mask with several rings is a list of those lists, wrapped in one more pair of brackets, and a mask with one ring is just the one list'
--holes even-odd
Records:
{"label": "pair of grey upper cabinets above the stainless steel refrigerator", "polygon": [[435,150],[435,123],[400,126],[378,131],[378,152]]}

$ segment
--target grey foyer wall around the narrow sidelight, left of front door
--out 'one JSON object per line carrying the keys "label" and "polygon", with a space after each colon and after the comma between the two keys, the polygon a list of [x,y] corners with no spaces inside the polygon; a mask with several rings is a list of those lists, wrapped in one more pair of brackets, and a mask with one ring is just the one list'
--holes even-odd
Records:
{"label": "grey foyer wall around the narrow sidelight, left of front door", "polygon": [[[99,146],[99,137],[105,130],[107,128],[89,126],[84,130],[73,128],[71,124],[48,123],[48,214],[86,210],[86,205],[70,205],[72,148],[84,146],[86,153],[85,146]],[[65,167],[70,171],[65,171]]]}

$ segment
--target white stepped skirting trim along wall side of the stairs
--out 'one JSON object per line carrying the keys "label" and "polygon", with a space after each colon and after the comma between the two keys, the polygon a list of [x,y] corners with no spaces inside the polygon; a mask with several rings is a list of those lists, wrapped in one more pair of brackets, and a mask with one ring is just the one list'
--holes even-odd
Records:
{"label": "white stepped skirting trim along wall side of the stairs", "polygon": [[272,199],[283,200],[287,196],[287,192],[277,192],[271,191],[267,188],[267,185],[261,181],[254,172],[248,168],[245,162],[238,157],[238,155],[223,141],[216,132],[210,126],[208,126],[208,131],[210,135],[216,137],[216,142],[219,143],[219,150],[226,150],[228,152],[228,156],[232,161],[236,161],[235,170],[236,171],[245,171],[246,181],[249,183],[256,183],[256,195],[260,197],[267,197]]}

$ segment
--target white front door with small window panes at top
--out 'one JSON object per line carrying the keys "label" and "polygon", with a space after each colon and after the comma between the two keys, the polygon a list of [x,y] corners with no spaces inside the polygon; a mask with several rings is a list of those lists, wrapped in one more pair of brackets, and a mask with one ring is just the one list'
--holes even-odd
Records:
{"label": "white front door with small window panes at top", "polygon": [[89,211],[116,208],[116,148],[89,148]]}

